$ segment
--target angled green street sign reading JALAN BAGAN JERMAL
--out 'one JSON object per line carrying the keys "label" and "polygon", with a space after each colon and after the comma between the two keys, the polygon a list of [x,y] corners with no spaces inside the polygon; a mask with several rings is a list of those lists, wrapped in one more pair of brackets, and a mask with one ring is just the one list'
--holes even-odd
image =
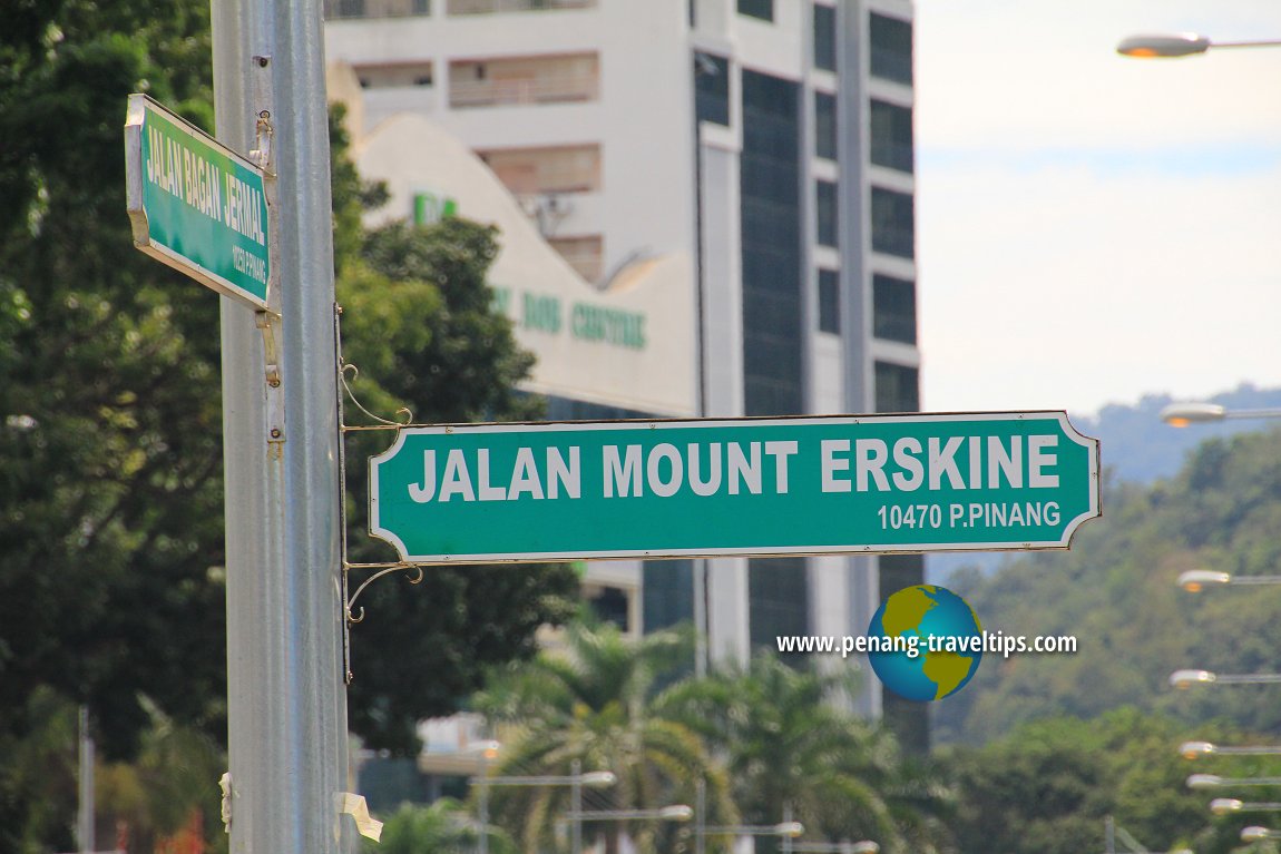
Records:
{"label": "angled green street sign reading JALAN BAGAN JERMAL", "polygon": [[124,163],[133,245],[219,293],[266,309],[263,170],[146,95],[129,96]]}

